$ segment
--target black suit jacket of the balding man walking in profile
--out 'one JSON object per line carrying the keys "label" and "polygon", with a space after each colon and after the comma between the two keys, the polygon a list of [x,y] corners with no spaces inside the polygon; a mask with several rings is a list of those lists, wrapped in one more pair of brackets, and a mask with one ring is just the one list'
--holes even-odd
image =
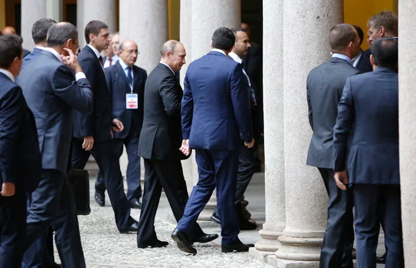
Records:
{"label": "black suit jacket of the balding man walking in profile", "polygon": [[139,156],[145,159],[184,159],[180,101],[182,87],[175,74],[157,64],[144,88],[144,119],[139,138]]}

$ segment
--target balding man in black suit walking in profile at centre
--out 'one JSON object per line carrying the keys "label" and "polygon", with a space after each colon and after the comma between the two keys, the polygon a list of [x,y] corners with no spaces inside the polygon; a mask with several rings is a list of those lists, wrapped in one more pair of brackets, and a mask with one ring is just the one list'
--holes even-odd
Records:
{"label": "balding man in black suit walking in profile at centre", "polygon": [[[180,107],[182,87],[175,77],[185,64],[184,46],[175,40],[163,44],[161,60],[149,74],[144,90],[144,123],[139,139],[139,155],[144,158],[143,207],[141,208],[137,247],[166,247],[168,242],[157,239],[155,215],[162,188],[173,215],[178,221],[184,214],[188,192],[179,150],[182,141]],[[196,224],[191,231],[192,242],[209,242],[218,235],[205,234]]]}

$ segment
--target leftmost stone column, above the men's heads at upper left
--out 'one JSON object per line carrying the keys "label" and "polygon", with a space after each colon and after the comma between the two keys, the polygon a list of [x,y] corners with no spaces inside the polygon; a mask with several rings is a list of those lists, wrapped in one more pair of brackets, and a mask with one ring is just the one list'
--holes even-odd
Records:
{"label": "leftmost stone column, above the men's heads at upper left", "polygon": [[35,44],[32,39],[32,26],[38,20],[46,17],[45,0],[21,0],[21,37],[23,48],[33,51]]}

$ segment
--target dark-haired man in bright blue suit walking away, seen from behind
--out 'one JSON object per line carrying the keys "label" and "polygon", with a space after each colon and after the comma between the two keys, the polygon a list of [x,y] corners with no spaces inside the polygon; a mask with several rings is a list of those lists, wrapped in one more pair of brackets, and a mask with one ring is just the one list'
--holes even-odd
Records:
{"label": "dark-haired man in bright blue suit walking away, seen from behind", "polygon": [[191,231],[215,188],[222,251],[248,251],[254,247],[239,240],[239,217],[234,204],[240,132],[245,146],[254,145],[242,67],[227,58],[234,44],[232,30],[218,28],[212,37],[212,51],[189,65],[184,80],[181,151],[189,155],[191,148],[196,149],[199,180],[171,236],[179,249],[189,253],[196,253],[191,246]]}

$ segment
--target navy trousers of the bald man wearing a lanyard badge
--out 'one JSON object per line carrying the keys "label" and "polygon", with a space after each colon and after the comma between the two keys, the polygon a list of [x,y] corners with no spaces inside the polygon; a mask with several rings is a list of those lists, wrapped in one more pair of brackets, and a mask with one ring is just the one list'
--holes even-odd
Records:
{"label": "navy trousers of the bald man wearing a lanyard badge", "polygon": [[[139,133],[137,133],[134,124],[132,124],[130,132],[125,139],[114,139],[113,143],[114,151],[119,159],[121,154],[123,154],[123,145],[125,145],[128,157],[128,166],[125,176],[127,177],[127,199],[130,201],[139,201],[141,197],[140,157],[137,155],[137,150],[139,149]],[[105,191],[105,184],[101,170],[98,172],[95,188],[96,190]]]}

